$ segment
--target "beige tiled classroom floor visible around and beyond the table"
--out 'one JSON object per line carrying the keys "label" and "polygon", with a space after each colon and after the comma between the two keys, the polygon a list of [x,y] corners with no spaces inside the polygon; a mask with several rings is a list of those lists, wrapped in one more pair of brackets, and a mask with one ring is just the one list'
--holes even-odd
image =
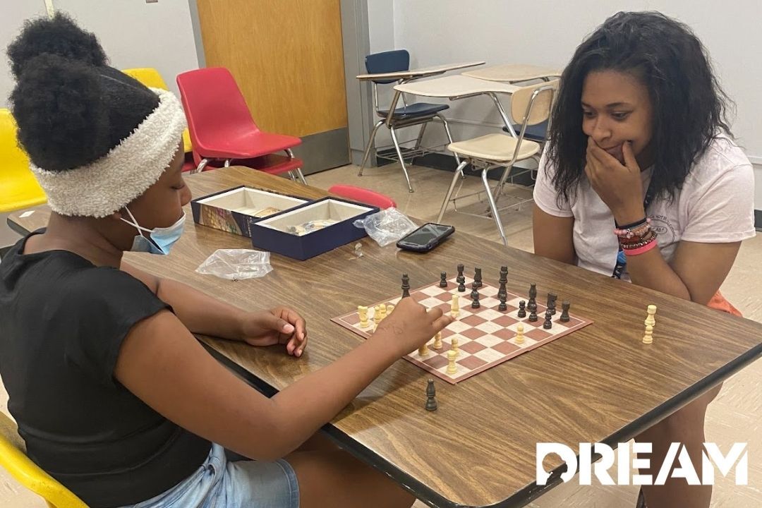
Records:
{"label": "beige tiled classroom floor visible around and beyond the table", "polygon": [[[307,177],[310,185],[328,189],[333,184],[354,184],[378,190],[392,196],[400,211],[423,221],[435,221],[452,174],[430,168],[411,168],[411,181],[415,193],[408,193],[399,165],[368,168],[363,177],[357,177],[356,166],[345,166]],[[468,177],[464,190],[479,190],[481,181]],[[516,189],[517,195],[527,191]],[[464,201],[466,211],[479,212],[482,205],[475,200]],[[500,241],[491,219],[474,219],[448,212],[443,222],[455,226],[456,231],[469,232],[480,238]],[[503,224],[508,244],[514,248],[533,251],[531,207],[524,206],[517,212],[504,212]],[[5,217],[0,224],[0,238],[8,235],[3,231]],[[12,233],[11,233],[12,238]],[[0,243],[2,244],[2,243]],[[722,286],[723,294],[738,307],[744,316],[762,321],[762,235],[745,241],[735,265]],[[8,395],[0,385],[0,410],[7,413]],[[748,486],[736,486],[732,478],[718,478],[712,497],[712,508],[749,508],[762,506],[762,362],[757,361],[738,372],[725,382],[718,398],[709,406],[706,416],[706,439],[719,444],[727,451],[732,443],[748,443]],[[581,487],[576,478],[568,484],[555,487],[548,494],[533,501],[530,508],[633,508],[637,487],[605,487],[592,485]],[[0,506],[5,508],[45,508],[40,498],[19,487],[16,482],[0,471]],[[424,508],[415,503],[415,508]]]}

